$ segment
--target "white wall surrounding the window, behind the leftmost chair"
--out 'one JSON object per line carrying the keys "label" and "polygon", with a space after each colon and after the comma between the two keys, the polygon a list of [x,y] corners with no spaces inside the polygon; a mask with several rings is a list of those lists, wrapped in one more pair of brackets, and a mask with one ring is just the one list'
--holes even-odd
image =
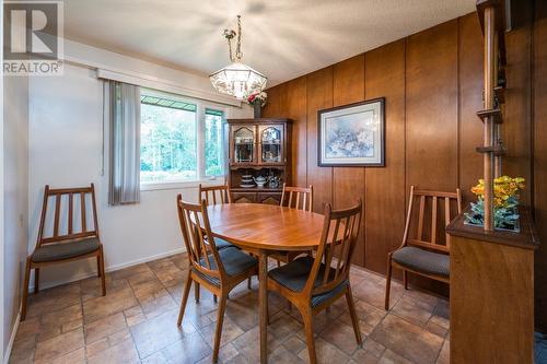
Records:
{"label": "white wall surrounding the window, behind the leftmost chair", "polygon": [[[67,42],[72,60],[103,64],[181,86],[209,92],[209,80],[86,45]],[[230,117],[248,117],[251,108],[231,107]],[[95,71],[65,64],[62,77],[33,78],[30,82],[30,249],[35,245],[44,186],[95,184],[106,269],[117,269],[183,249],[176,214],[176,193],[197,201],[197,188],[141,192],[136,206],[107,204],[107,169],[102,171],[102,86]],[[72,262],[42,270],[40,286],[72,281],[95,272],[95,262]]]}

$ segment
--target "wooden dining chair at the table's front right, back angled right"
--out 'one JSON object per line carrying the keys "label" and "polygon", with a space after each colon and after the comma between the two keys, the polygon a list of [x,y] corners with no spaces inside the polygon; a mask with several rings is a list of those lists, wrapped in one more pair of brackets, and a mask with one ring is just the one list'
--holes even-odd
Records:
{"label": "wooden dining chair at the table's front right, back angled right", "polygon": [[300,310],[310,363],[316,363],[313,315],[346,296],[356,340],[362,344],[349,271],[361,224],[362,202],[347,210],[325,207],[325,222],[315,258],[305,256],[268,272],[268,290],[279,293]]}

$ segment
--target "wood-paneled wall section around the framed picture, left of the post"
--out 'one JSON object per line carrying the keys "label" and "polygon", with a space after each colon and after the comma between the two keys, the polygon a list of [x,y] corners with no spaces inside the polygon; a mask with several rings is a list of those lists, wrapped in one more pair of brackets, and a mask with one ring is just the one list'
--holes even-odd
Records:
{"label": "wood-paneled wall section around the framed picture, left of the post", "polygon": [[[364,201],[357,263],[385,272],[387,253],[400,244],[411,185],[467,191],[476,183],[480,34],[469,14],[268,90],[264,114],[295,120],[293,184],[314,186],[316,211]],[[386,166],[318,167],[317,110],[375,97],[386,99]]]}

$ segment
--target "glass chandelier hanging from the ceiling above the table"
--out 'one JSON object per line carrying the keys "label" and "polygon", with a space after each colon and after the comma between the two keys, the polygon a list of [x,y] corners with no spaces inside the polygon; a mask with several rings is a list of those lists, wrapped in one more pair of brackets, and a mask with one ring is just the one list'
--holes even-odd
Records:
{"label": "glass chandelier hanging from the ceiling above the table", "polygon": [[[237,35],[235,57],[232,54],[232,39]],[[214,89],[223,94],[235,96],[238,99],[259,93],[266,87],[268,79],[258,71],[242,63],[241,51],[241,15],[237,15],[237,33],[233,30],[224,30],[224,38],[228,40],[230,50],[230,63],[223,69],[209,75]]]}

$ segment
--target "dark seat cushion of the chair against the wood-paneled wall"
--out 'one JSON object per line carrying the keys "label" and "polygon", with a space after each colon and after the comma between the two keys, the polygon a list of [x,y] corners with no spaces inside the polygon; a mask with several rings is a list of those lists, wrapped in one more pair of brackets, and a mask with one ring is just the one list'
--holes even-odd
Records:
{"label": "dark seat cushion of the chair against the wood-paneled wall", "polygon": [[445,254],[406,246],[396,250],[392,258],[400,266],[417,272],[450,277],[450,257]]}

